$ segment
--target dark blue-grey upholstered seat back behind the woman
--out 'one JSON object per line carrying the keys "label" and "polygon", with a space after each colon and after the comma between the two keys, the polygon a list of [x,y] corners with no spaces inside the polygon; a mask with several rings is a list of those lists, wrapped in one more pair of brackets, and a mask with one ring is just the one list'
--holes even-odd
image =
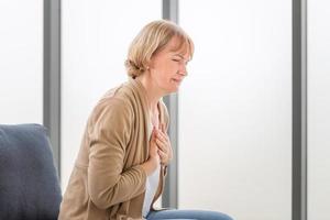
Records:
{"label": "dark blue-grey upholstered seat back behind the woman", "polygon": [[57,219],[61,200],[46,129],[0,125],[0,219]]}

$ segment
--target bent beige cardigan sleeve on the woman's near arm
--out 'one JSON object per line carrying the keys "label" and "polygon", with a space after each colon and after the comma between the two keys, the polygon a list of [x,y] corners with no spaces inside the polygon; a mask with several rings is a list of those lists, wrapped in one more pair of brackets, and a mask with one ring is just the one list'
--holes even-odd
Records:
{"label": "bent beige cardigan sleeve on the woman's near arm", "polygon": [[133,123],[129,106],[111,99],[95,111],[89,132],[88,193],[98,208],[106,209],[142,194],[147,175],[141,165],[123,170]]}

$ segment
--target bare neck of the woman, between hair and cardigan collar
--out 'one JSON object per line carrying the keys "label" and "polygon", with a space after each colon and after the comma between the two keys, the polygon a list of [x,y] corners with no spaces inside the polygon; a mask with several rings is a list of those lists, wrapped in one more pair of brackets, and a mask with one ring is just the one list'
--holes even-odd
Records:
{"label": "bare neck of the woman, between hair and cardigan collar", "polygon": [[141,81],[146,91],[150,111],[155,112],[157,110],[157,102],[164,96],[164,92],[151,80],[150,73],[144,73],[138,76],[136,79]]}

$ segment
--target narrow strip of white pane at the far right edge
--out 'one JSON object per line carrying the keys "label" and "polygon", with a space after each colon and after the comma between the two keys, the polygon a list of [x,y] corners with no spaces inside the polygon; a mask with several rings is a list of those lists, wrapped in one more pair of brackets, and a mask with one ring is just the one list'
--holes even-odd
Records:
{"label": "narrow strip of white pane at the far right edge", "polygon": [[308,1],[308,219],[330,219],[330,2]]}

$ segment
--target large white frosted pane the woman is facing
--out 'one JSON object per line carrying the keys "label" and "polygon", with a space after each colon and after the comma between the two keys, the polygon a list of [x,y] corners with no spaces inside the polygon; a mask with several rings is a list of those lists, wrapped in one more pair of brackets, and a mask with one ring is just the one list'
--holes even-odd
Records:
{"label": "large white frosted pane the woman is facing", "polygon": [[292,1],[180,1],[179,208],[292,219]]}

